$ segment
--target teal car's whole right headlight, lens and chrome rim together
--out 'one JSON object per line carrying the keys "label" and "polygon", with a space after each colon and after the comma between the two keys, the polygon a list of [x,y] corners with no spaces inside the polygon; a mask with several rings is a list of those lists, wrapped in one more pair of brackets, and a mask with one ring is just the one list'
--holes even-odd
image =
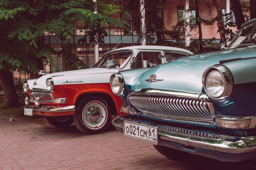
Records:
{"label": "teal car's whole right headlight, lens and chrome rim together", "polygon": [[204,71],[202,83],[208,96],[217,102],[223,102],[232,92],[233,76],[226,66],[216,64]]}

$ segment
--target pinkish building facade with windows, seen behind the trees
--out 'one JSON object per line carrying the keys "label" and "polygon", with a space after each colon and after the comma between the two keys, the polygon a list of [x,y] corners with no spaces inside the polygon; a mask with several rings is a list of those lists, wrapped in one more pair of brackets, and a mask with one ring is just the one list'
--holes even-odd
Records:
{"label": "pinkish building facade with windows, seen behind the trees", "polygon": [[[249,1],[240,1],[241,3],[249,4]],[[216,17],[217,11],[213,6],[212,1],[210,2],[210,8],[208,6],[203,8],[203,17],[211,20]],[[120,19],[126,21],[130,25],[132,25],[132,17],[130,17],[130,13],[128,11],[128,0],[122,1],[114,1],[115,5],[122,6],[120,7],[121,12],[111,16],[116,19]],[[223,5],[223,14],[232,12],[232,7],[229,0],[222,0]],[[195,12],[191,11],[189,14],[186,14],[184,10],[191,7],[192,4],[189,4],[189,0],[172,0],[166,4],[167,10],[163,11],[163,20],[165,22],[165,27],[167,29],[171,29],[172,26],[176,25],[178,21],[184,20],[187,17],[191,17],[195,15]],[[249,16],[249,11],[246,13]],[[233,17],[233,16],[232,16]],[[233,17],[235,21],[235,18]],[[193,24],[193,23],[191,23]],[[128,34],[127,30],[122,29],[118,25],[103,25],[108,35],[104,38],[104,44],[98,44],[97,46],[93,46],[92,44],[81,44],[79,43],[79,39],[84,37],[87,34],[87,30],[84,29],[84,25],[82,23],[77,23],[76,30],[72,33],[72,38],[67,40],[61,40],[58,35],[52,35],[47,32],[45,35],[45,43],[49,44],[56,51],[60,51],[63,45],[69,45],[72,47],[71,51],[76,54],[83,62],[91,68],[94,66],[95,62],[97,62],[104,53],[113,50],[118,43]],[[128,35],[118,46],[117,48],[140,45],[141,42],[138,41],[137,33],[139,28],[133,30],[133,35]],[[212,39],[216,38],[215,41],[212,42],[211,47],[218,48],[219,47],[219,39],[220,35],[217,33],[218,27],[217,23],[210,26],[202,25],[202,35],[203,39]],[[236,31],[236,28],[232,28],[233,32]],[[198,34],[190,31],[190,37],[186,38],[186,42],[189,43],[194,39],[198,39]],[[89,39],[88,39],[89,40]],[[89,41],[88,41],[89,42]],[[69,71],[71,70],[70,63],[67,60],[64,60],[62,56],[52,56],[54,59],[54,63],[51,65],[45,66],[45,71],[53,72],[61,72],[61,71]],[[24,72],[13,73],[14,77],[27,78],[27,74]]]}

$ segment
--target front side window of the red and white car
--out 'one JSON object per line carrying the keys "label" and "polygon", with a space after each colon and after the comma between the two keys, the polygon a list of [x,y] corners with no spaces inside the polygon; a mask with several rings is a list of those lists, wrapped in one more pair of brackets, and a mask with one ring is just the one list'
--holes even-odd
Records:
{"label": "front side window of the red and white car", "polygon": [[131,65],[131,69],[154,67],[162,64],[162,59],[159,58],[159,52],[140,52],[137,55],[137,61]]}

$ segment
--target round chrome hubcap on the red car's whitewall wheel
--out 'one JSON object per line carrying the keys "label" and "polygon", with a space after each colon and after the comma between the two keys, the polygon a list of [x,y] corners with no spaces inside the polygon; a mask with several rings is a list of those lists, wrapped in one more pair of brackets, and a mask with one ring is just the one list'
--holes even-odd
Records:
{"label": "round chrome hubcap on the red car's whitewall wheel", "polygon": [[100,108],[91,106],[86,110],[86,120],[92,124],[96,124],[101,120]]}

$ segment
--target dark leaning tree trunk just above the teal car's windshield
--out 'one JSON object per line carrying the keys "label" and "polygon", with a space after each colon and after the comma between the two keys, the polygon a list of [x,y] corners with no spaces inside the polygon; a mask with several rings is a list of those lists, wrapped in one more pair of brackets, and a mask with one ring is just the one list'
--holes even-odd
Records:
{"label": "dark leaning tree trunk just above the teal car's windshield", "polygon": [[239,0],[230,0],[230,2],[231,2],[232,10],[234,13],[234,17],[235,17],[235,23],[237,25],[237,29],[239,29],[241,25],[245,23],[245,18],[242,11],[241,3]]}

